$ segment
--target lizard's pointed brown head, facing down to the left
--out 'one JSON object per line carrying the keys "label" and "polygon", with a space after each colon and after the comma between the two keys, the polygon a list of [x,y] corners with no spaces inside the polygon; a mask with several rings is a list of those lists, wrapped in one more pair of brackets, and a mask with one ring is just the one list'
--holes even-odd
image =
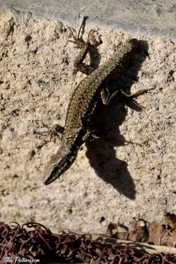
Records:
{"label": "lizard's pointed brown head, facing down to the left", "polygon": [[77,157],[77,150],[70,152],[69,154],[54,155],[50,162],[45,165],[43,174],[43,184],[48,185],[54,182],[60,175],[70,168]]}

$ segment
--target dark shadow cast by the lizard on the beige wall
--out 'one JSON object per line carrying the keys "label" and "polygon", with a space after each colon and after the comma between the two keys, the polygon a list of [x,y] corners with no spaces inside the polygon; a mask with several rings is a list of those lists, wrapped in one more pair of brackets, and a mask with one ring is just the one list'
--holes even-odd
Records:
{"label": "dark shadow cast by the lizard on the beige wall", "polygon": [[[133,60],[123,70],[120,69],[119,79],[113,80],[114,90],[124,88],[121,83],[126,84],[125,90],[130,90],[132,84],[138,81],[138,71],[142,62],[148,56],[147,50],[147,41],[140,41],[139,49],[134,54],[136,61]],[[86,142],[86,156],[90,165],[101,179],[111,184],[120,194],[125,195],[129,199],[135,199],[135,183],[128,171],[128,164],[116,158],[116,150],[114,149],[114,147],[123,146],[125,142],[125,138],[120,134],[119,130],[119,126],[127,115],[127,109],[124,107],[125,101],[126,97],[120,95],[116,96],[108,106],[104,106],[102,102],[99,102],[93,121],[98,124],[98,127],[103,126],[108,128],[109,131],[107,132],[105,129],[106,132],[101,133],[99,135],[100,138]],[[134,104],[129,104],[128,106],[136,111],[141,111]],[[131,155],[131,153],[126,155]]]}

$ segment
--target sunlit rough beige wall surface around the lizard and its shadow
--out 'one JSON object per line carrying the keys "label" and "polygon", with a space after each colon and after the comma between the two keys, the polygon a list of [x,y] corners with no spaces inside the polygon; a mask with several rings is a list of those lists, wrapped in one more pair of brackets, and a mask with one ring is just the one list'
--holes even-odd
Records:
{"label": "sunlit rough beige wall surface around the lizard and its shadow", "polygon": [[[176,210],[175,82],[176,45],[87,25],[83,38],[97,67],[124,41],[140,46],[128,66],[111,79],[128,92],[156,87],[132,102],[116,98],[100,105],[95,120],[108,130],[83,145],[70,169],[53,184],[42,184],[44,165],[60,138],[44,137],[43,123],[64,125],[70,96],[85,76],[73,72],[79,50],[68,42],[61,21],[26,14],[0,16],[0,202],[1,221],[36,221],[75,231],[104,233],[109,222],[129,226],[132,217],[160,221]],[[85,61],[90,62],[87,55]],[[128,106],[126,105],[128,104]]]}

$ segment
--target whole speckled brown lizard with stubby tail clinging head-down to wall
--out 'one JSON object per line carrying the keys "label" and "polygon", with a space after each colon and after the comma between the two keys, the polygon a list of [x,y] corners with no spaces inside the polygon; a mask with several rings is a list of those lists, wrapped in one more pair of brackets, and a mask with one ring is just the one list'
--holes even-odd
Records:
{"label": "whole speckled brown lizard with stubby tail clinging head-down to wall", "polygon": [[106,60],[106,62],[97,69],[94,69],[90,65],[83,63],[88,52],[89,35],[91,32],[89,32],[87,42],[79,38],[83,22],[76,37],[70,28],[74,40],[69,41],[80,49],[80,53],[76,57],[74,65],[87,76],[82,79],[72,94],[67,108],[65,127],[58,124],[55,125],[55,131],[62,133],[61,143],[57,153],[53,155],[49,163],[45,165],[43,175],[44,185],[49,185],[54,182],[60,175],[68,170],[74,163],[80,146],[86,140],[90,139],[91,131],[88,130],[88,126],[99,97],[101,97],[103,104],[107,105],[118,93],[122,93],[126,97],[133,97],[153,89],[145,89],[134,94],[127,94],[123,89],[117,89],[114,93],[110,94],[107,87],[102,87],[102,83],[105,83],[106,78],[111,72],[123,62],[133,49],[138,47],[138,40],[133,38],[126,41],[123,46]]}

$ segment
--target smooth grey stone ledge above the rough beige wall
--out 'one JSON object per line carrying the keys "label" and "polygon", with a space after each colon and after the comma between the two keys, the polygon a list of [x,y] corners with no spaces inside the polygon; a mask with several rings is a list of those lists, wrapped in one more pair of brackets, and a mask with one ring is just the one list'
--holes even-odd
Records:
{"label": "smooth grey stone ledge above the rough beige wall", "polygon": [[36,18],[57,18],[75,27],[78,16],[89,16],[87,24],[120,29],[145,37],[167,37],[176,42],[175,0],[1,0],[0,10],[20,17],[30,12]]}

